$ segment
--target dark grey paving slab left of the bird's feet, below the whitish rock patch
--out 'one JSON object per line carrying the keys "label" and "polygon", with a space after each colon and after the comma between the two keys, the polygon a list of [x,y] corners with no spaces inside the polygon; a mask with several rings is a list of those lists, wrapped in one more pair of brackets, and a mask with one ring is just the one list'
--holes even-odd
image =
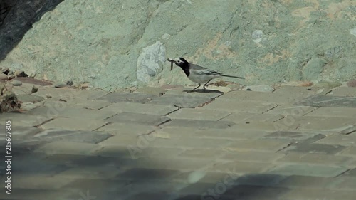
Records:
{"label": "dark grey paving slab left of the bird's feet, below the whitish rock patch", "polygon": [[145,94],[145,93],[108,93],[105,96],[97,98],[97,100],[106,100],[108,102],[149,102],[157,95]]}

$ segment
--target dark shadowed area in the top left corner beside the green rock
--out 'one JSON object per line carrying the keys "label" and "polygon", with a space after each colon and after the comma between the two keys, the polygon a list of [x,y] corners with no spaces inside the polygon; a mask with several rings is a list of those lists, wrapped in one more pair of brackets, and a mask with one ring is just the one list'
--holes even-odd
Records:
{"label": "dark shadowed area in the top left corner beside the green rock", "polygon": [[21,41],[32,24],[64,0],[0,0],[0,60]]}

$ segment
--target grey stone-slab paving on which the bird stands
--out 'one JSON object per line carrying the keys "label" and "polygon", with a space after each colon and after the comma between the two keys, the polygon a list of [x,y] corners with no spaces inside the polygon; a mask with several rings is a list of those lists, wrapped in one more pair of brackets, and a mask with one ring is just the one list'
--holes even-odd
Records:
{"label": "grey stone-slab paving on which the bird stands", "polygon": [[0,199],[355,200],[356,88],[38,87],[0,115]]}

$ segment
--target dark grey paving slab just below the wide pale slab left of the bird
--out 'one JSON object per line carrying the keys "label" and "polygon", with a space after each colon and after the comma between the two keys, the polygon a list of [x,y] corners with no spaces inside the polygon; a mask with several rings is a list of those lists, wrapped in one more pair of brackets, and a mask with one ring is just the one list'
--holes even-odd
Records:
{"label": "dark grey paving slab just below the wide pale slab left of the bird", "polygon": [[150,125],[150,126],[162,125],[169,121],[170,119],[165,116],[141,114],[141,113],[134,113],[134,112],[121,112],[105,120],[105,122],[110,122],[110,123],[117,123],[117,122],[135,123],[135,124]]}

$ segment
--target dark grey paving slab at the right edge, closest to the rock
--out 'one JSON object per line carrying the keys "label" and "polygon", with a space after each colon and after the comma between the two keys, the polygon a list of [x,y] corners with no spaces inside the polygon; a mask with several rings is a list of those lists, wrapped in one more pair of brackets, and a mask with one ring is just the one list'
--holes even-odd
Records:
{"label": "dark grey paving slab at the right edge, closest to the rock", "polygon": [[295,102],[295,105],[305,105],[312,107],[356,107],[355,97],[342,97],[342,96],[310,96]]}

